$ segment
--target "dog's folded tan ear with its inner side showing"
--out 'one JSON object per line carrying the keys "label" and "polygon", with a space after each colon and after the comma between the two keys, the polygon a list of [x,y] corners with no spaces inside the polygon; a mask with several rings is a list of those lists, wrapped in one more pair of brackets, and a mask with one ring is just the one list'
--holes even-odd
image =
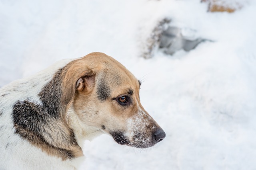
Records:
{"label": "dog's folded tan ear with its inner side showing", "polygon": [[61,104],[66,106],[70,103],[76,91],[89,94],[95,85],[95,73],[86,69],[68,69],[62,82]]}

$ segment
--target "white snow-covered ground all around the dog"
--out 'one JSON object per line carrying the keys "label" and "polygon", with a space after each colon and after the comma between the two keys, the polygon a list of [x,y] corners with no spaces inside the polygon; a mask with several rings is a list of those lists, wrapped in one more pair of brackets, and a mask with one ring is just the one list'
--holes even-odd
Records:
{"label": "white snow-covered ground all around the dog", "polygon": [[[142,105],[166,139],[134,149],[102,135],[86,141],[81,170],[255,170],[256,2],[243,2],[229,14],[208,13],[200,0],[0,1],[0,86],[104,52],[142,78]],[[165,17],[214,42],[141,58]]]}

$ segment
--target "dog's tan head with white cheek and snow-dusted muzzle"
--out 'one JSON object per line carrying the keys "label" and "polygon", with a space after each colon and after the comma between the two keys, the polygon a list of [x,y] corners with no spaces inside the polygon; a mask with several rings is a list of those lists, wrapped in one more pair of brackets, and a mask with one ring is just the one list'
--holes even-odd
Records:
{"label": "dog's tan head with white cheek and snow-dusted muzzle", "polygon": [[69,64],[61,102],[68,115],[75,113],[72,128],[80,129],[80,136],[103,132],[121,145],[147,148],[166,135],[140,104],[139,91],[140,81],[122,64],[91,53]]}

